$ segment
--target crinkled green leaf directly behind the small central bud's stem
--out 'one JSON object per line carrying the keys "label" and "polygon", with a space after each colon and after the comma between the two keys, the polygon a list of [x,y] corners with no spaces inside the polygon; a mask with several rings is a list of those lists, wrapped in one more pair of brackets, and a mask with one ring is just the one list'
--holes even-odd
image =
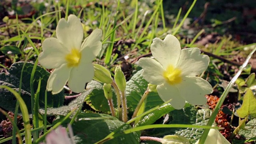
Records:
{"label": "crinkled green leaf directly behind the small central bud's stem", "polygon": [[[92,80],[86,86],[86,89],[93,89],[92,92],[85,98],[86,104],[97,111],[110,113],[110,108],[108,106],[108,100],[104,96],[103,84]],[[113,103],[116,104],[116,94],[112,89]]]}

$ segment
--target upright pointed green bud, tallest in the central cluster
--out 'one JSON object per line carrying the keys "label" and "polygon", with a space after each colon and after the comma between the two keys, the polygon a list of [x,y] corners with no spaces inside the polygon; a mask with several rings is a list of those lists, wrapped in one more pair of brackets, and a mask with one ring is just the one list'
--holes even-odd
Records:
{"label": "upright pointed green bud, tallest in the central cluster", "polygon": [[121,92],[124,92],[125,88],[126,88],[126,80],[124,77],[124,73],[121,70],[121,66],[117,66],[115,69],[115,76],[114,76],[114,80],[116,82],[116,85],[118,87],[118,89]]}

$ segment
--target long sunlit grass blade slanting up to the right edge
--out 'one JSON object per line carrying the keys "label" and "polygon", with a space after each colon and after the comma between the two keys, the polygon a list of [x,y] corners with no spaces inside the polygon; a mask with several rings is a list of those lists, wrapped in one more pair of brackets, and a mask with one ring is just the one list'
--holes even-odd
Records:
{"label": "long sunlit grass blade slanting up to the right edge", "polygon": [[[247,66],[250,58],[252,57],[252,54],[256,51],[256,47],[254,48],[254,50],[252,50],[252,52],[250,52],[250,54],[248,55],[248,57],[246,58],[244,64],[241,66],[241,68],[238,70],[238,72],[236,73],[236,75],[232,78],[232,80],[230,81],[230,83],[228,84],[227,88],[224,90],[223,94],[220,97],[220,100],[218,101],[218,103],[216,104],[216,107],[214,108],[214,111],[212,112],[212,115],[207,123],[207,126],[212,126],[216,115],[218,114],[218,111],[220,110],[220,107],[222,106],[226,96],[228,95],[228,92],[230,91],[230,89],[232,88],[233,84],[236,82],[236,79],[240,76],[240,74],[242,73],[242,71],[244,70],[244,68]],[[204,144],[207,135],[209,133],[209,129],[204,130],[199,144]]]}

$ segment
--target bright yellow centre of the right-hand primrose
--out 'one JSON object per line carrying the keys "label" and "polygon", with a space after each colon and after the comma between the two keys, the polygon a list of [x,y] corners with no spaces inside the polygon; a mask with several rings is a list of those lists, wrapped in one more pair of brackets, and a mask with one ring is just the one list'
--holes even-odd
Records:
{"label": "bright yellow centre of the right-hand primrose", "polygon": [[174,68],[172,65],[169,65],[166,68],[163,75],[170,85],[179,84],[182,82],[181,70]]}

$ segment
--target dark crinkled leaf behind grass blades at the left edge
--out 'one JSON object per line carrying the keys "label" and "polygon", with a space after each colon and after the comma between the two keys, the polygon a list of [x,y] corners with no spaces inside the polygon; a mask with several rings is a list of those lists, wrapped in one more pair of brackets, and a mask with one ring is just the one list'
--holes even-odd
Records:
{"label": "dark crinkled leaf behind grass blades at the left edge", "polygon": [[[9,74],[0,73],[0,81],[1,85],[10,86],[14,88],[18,92],[19,84],[20,84],[20,74],[22,70],[24,62],[16,62],[12,64],[9,70]],[[24,99],[28,111],[31,112],[31,100],[30,100],[30,76],[33,69],[34,64],[27,62],[22,76],[22,90],[21,96]],[[39,104],[40,107],[44,107],[44,93],[46,90],[46,84],[50,73],[44,70],[40,66],[36,66],[36,72],[34,75],[34,92],[38,87],[38,81],[41,78],[41,87],[40,87],[40,97],[39,97]],[[16,99],[13,95],[4,90],[0,89],[0,105],[10,111],[14,111]],[[48,107],[58,107],[63,104],[64,102],[64,91],[60,92],[59,94],[52,95],[51,92],[47,93],[47,105]]]}

